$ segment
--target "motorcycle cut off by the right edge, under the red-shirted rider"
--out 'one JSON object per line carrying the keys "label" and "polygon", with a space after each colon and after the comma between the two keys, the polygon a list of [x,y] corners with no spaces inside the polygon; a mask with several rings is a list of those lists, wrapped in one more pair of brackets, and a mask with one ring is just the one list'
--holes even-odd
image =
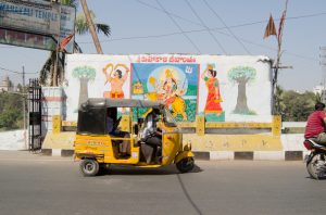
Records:
{"label": "motorcycle cut off by the right edge, under the red-shirted rider", "polygon": [[304,157],[306,170],[314,179],[326,178],[326,146],[316,143],[313,139],[306,139],[303,142],[310,154]]}

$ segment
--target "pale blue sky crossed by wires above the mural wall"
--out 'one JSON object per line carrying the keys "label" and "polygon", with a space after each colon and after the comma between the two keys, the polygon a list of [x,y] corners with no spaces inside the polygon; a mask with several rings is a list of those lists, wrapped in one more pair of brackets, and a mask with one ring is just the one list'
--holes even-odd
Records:
{"label": "pale blue sky crossed by wires above the mural wall", "polygon": [[[110,25],[110,37],[99,35],[105,54],[189,53],[277,54],[275,37],[263,39],[272,14],[276,28],[285,0],[88,0],[96,22]],[[210,8],[208,7],[210,5]],[[190,8],[191,7],[191,8]],[[80,7],[77,13],[82,12]],[[173,15],[167,15],[167,13]],[[173,18],[171,18],[173,17]],[[321,47],[326,47],[326,1],[289,0],[283,36],[283,66],[278,81],[285,89],[312,90],[324,83]],[[227,27],[225,27],[227,26]],[[189,39],[191,41],[189,41]],[[77,36],[84,53],[96,53],[90,35]],[[48,51],[0,45],[0,78],[16,84],[25,71],[37,77]]]}

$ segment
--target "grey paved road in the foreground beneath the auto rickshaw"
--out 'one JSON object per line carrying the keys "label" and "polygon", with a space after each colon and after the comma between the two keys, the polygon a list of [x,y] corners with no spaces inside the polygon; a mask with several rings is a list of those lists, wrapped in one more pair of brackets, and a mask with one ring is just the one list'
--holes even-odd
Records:
{"label": "grey paved road in the foreground beneath the auto rickshaw", "polygon": [[0,151],[0,214],[325,214],[326,180],[301,162],[197,162],[195,173],[112,167]]}

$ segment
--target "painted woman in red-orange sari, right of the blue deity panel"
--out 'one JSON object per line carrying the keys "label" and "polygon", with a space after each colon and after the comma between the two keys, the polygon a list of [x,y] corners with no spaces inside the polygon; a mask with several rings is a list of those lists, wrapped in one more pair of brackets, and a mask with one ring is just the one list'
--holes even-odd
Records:
{"label": "painted woman in red-orange sari, right of the blue deity panel", "polygon": [[208,87],[208,98],[204,112],[205,114],[215,113],[220,115],[223,112],[221,106],[222,97],[220,92],[220,83],[216,78],[216,71],[213,69],[212,65],[202,73],[201,78],[205,81]]}

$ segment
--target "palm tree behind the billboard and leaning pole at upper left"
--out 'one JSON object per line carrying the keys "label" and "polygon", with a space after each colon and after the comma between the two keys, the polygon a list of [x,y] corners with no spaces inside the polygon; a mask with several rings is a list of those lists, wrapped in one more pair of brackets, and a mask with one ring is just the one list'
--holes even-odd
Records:
{"label": "palm tree behind the billboard and leaning pole at upper left", "polygon": [[[77,8],[78,0],[62,0],[62,4],[71,5]],[[96,15],[92,11],[89,11],[90,17],[92,21],[96,21]],[[98,33],[102,33],[105,36],[111,35],[111,28],[106,24],[95,23],[93,24],[96,30]],[[87,21],[84,13],[78,13],[75,22],[75,33],[78,35],[84,35],[89,33],[89,27],[87,25]],[[74,53],[82,53],[82,49],[77,42],[74,43]],[[58,58],[58,61],[57,61]],[[58,86],[59,83],[63,80],[64,76],[64,59],[65,53],[51,51],[48,60],[43,64],[42,68],[40,69],[40,84],[43,86]],[[58,63],[58,64],[57,64]],[[57,66],[55,66],[57,64]]]}

